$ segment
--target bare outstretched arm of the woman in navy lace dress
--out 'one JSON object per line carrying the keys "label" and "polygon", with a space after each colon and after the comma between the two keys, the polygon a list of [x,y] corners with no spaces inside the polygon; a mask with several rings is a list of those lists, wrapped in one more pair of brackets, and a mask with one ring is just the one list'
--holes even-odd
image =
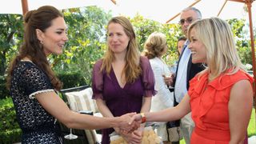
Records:
{"label": "bare outstretched arm of the woman in navy lace dress", "polygon": [[[47,112],[70,128],[102,129],[125,126],[127,119],[130,117],[129,115],[126,115],[125,117],[122,116],[117,118],[100,118],[87,114],[74,113],[54,92],[35,94],[35,97]],[[125,118],[127,119],[125,120]],[[129,125],[127,125],[127,127],[129,127]]]}

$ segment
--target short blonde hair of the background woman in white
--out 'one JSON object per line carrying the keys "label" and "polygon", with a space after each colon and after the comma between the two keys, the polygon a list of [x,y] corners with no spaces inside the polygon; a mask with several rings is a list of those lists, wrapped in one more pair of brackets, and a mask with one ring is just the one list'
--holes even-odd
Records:
{"label": "short blonde hair of the background woman in white", "polygon": [[155,58],[162,56],[166,49],[166,35],[158,32],[154,32],[150,34],[149,38],[147,38],[143,55],[146,56],[146,58]]}

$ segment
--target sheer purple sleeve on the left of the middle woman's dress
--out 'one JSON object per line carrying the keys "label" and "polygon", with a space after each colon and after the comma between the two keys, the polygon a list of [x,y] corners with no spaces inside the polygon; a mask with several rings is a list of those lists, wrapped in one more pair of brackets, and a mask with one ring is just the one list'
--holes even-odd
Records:
{"label": "sheer purple sleeve on the left of the middle woman's dress", "polygon": [[98,60],[94,64],[92,73],[92,89],[93,89],[93,99],[101,98],[103,99],[103,74],[100,72],[102,66],[102,59]]}

